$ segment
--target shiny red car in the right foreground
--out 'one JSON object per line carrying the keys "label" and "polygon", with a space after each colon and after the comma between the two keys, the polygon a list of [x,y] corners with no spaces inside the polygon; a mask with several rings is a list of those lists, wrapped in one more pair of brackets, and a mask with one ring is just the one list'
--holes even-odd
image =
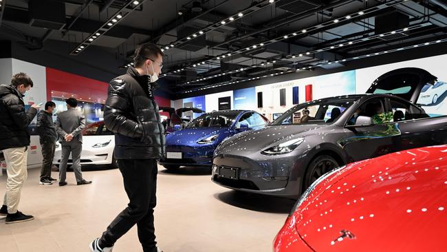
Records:
{"label": "shiny red car in the right foreground", "polygon": [[274,251],[446,251],[446,224],[447,145],[411,149],[316,180]]}

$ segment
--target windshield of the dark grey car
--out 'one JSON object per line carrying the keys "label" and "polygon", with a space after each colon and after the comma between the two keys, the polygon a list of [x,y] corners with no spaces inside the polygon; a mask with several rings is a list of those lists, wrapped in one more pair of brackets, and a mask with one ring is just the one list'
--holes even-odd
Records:
{"label": "windshield of the dark grey car", "polygon": [[334,123],[359,97],[327,98],[296,105],[274,120],[271,125]]}

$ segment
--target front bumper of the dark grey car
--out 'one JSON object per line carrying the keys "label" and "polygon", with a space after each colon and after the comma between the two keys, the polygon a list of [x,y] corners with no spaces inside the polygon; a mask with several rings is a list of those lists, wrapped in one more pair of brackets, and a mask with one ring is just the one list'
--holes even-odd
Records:
{"label": "front bumper of the dark grey car", "polygon": [[296,154],[219,155],[212,161],[212,181],[238,191],[298,198],[305,171],[302,160]]}

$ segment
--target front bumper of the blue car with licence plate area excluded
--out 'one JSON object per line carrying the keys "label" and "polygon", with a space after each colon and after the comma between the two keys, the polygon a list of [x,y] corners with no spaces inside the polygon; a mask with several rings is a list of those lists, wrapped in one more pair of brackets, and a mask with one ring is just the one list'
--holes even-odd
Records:
{"label": "front bumper of the blue car with licence plate area excluded", "polygon": [[168,145],[166,153],[181,152],[182,158],[164,158],[160,160],[160,165],[182,165],[182,166],[212,166],[212,154],[214,154],[215,145],[206,145],[201,147],[190,147],[186,145]]}

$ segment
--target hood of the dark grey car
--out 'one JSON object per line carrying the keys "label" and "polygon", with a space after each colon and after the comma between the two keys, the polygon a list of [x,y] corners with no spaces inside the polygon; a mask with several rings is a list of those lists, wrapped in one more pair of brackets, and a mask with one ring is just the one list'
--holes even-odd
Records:
{"label": "hood of the dark grey car", "polygon": [[[237,154],[239,151],[260,151],[281,140],[312,134],[315,129],[327,125],[275,125],[243,132],[232,136],[219,145],[216,154]],[[305,134],[305,132],[307,134]]]}

